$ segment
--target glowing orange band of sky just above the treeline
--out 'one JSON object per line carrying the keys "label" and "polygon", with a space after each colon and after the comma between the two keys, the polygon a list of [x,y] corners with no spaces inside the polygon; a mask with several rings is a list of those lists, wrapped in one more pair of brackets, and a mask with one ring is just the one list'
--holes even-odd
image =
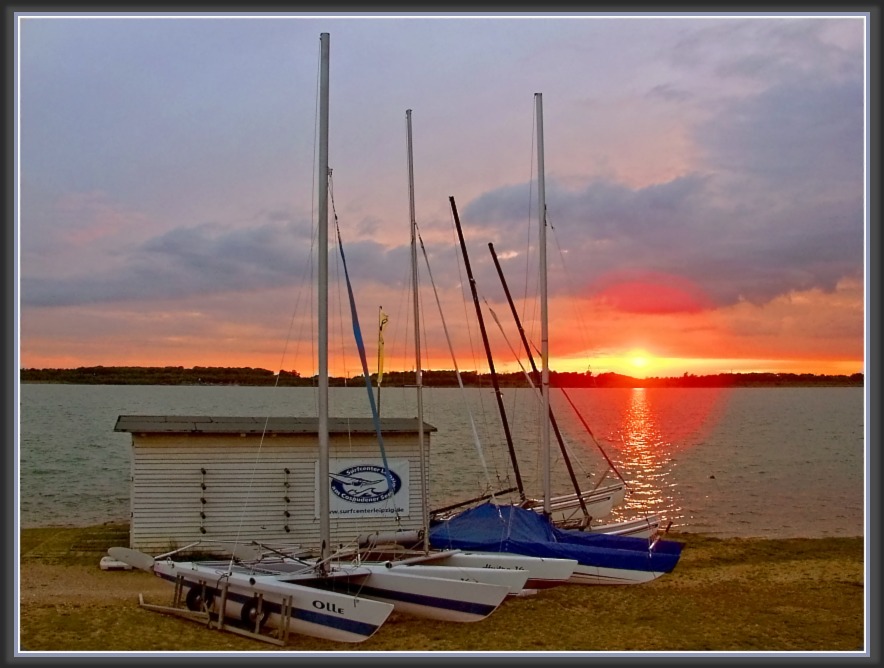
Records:
{"label": "glowing orange band of sky just above the treeline", "polygon": [[[429,299],[427,297],[425,300]],[[223,300],[222,300],[223,302]],[[386,371],[414,368],[414,342],[409,313],[410,298],[391,296],[385,307],[390,321],[385,328]],[[161,305],[156,305],[161,306]],[[257,314],[242,313],[238,320],[223,322],[206,309],[168,311],[120,310],[104,306],[78,309],[44,309],[31,314],[23,326],[21,366],[30,368],[77,366],[251,366],[270,370],[315,372],[313,345],[315,324],[299,321],[287,341],[284,327],[290,314],[277,312],[276,332],[268,331],[263,308]],[[223,306],[223,303],[222,303]],[[346,308],[346,305],[344,305]],[[432,307],[432,308],[431,308]],[[485,312],[486,329],[494,351],[495,367],[518,372],[519,362],[510,346],[521,352],[518,333],[510,322],[505,303],[491,305],[506,330],[506,336]],[[621,305],[622,307],[622,305]],[[424,304],[427,332],[423,346],[429,351],[424,368],[452,369],[454,364],[443,336],[435,307]],[[340,305],[330,307],[343,313],[330,325],[330,365],[333,375],[361,372],[352,343],[349,313]],[[446,326],[456,344],[457,366],[462,371],[487,370],[478,327],[473,322],[471,302],[463,302]],[[819,290],[793,293],[764,306],[743,302],[729,308],[691,310],[678,313],[624,313],[610,300],[553,300],[550,305],[551,367],[559,371],[616,372],[634,377],[680,376],[725,372],[781,372],[853,374],[863,372],[863,290],[843,281],[831,294]],[[562,314],[569,314],[563,316]],[[255,315],[250,319],[250,315]],[[61,319],[65,336],[44,338],[39,334],[41,318]],[[369,371],[377,371],[377,310],[360,314]],[[461,326],[470,322],[470,332]],[[532,340],[537,326],[523,323]],[[80,330],[102,332],[85,338]],[[405,328],[409,330],[406,331]],[[812,332],[812,336],[807,333]],[[300,341],[300,342],[299,342]],[[63,351],[59,353],[58,351]],[[347,359],[341,363],[342,352]],[[535,355],[539,364],[539,355]],[[528,368],[524,356],[522,365]]]}

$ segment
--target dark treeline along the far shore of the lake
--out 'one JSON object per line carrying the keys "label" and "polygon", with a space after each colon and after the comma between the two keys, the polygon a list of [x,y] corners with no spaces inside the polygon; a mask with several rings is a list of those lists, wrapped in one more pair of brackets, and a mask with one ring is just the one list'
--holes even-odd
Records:
{"label": "dark treeline along the far shore of the lake", "polygon": [[[498,383],[502,387],[529,387],[525,375],[498,373]],[[462,371],[461,379],[467,387],[491,387],[491,376],[487,373]],[[372,376],[375,384],[377,376]],[[302,377],[297,371],[280,371],[278,376],[267,369],[252,367],[202,367],[182,366],[139,367],[139,366],[92,366],[76,369],[22,369],[23,383],[70,383],[76,385],[257,385],[285,387],[311,387],[317,384],[316,377]],[[682,376],[667,378],[633,378],[617,373],[550,371],[552,387],[826,387],[859,386],[864,376],[855,373],[850,376],[826,376],[811,373],[720,373],[708,376],[695,376],[685,373]],[[455,371],[424,371],[421,383],[426,387],[457,387]],[[364,386],[361,375],[351,378],[331,378],[332,387]],[[415,384],[413,371],[388,371],[384,373],[382,384],[386,387],[404,387]]]}

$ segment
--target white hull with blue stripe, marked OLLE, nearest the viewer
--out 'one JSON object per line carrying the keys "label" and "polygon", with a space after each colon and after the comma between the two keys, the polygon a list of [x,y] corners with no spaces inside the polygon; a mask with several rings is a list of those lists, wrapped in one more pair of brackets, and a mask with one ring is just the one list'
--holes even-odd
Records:
{"label": "white hull with blue stripe, marked OLLE, nearest the viewer", "polygon": [[[171,582],[181,578],[189,588],[187,600],[192,610],[200,609],[205,586],[208,588],[207,611],[221,613],[226,584],[225,617],[243,622],[253,620],[260,600],[261,609],[267,615],[264,626],[285,630],[287,619],[287,630],[291,633],[336,642],[366,640],[393,610],[388,603],[306,587],[277,574],[256,573],[239,566],[230,569],[220,562],[158,561],[153,571]],[[287,614],[286,605],[290,607]]]}

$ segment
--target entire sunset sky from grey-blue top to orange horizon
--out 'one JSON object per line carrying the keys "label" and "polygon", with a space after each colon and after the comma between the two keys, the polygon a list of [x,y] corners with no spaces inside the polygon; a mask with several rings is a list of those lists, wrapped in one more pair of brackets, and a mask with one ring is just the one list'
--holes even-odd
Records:
{"label": "entire sunset sky from grey-blue top to orange horizon", "polygon": [[[867,30],[862,14],[20,16],[19,366],[315,373],[328,32],[334,212],[371,371],[381,309],[385,369],[414,366],[407,109],[458,367],[487,370],[449,196],[496,366],[518,371],[519,339],[489,242],[539,346],[540,92],[553,369],[863,372]],[[331,271],[331,372],[353,375],[337,255]],[[423,366],[451,369],[425,266],[421,283]]]}

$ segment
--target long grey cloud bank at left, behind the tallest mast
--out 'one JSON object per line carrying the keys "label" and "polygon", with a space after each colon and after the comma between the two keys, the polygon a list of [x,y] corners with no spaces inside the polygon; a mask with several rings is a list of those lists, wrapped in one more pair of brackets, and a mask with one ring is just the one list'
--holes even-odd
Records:
{"label": "long grey cloud bank at left, behind the tallest mast", "polygon": [[[104,208],[102,208],[104,210]],[[106,302],[186,299],[198,295],[251,292],[309,285],[315,273],[315,235],[309,222],[284,211],[256,214],[259,224],[202,223],[178,227],[117,248],[116,261],[74,275],[30,271],[22,279],[26,306],[72,306]],[[76,234],[81,234],[76,232]],[[408,248],[372,240],[347,241],[344,252],[357,290],[403,286]],[[333,222],[329,231],[330,271],[343,281]]]}

